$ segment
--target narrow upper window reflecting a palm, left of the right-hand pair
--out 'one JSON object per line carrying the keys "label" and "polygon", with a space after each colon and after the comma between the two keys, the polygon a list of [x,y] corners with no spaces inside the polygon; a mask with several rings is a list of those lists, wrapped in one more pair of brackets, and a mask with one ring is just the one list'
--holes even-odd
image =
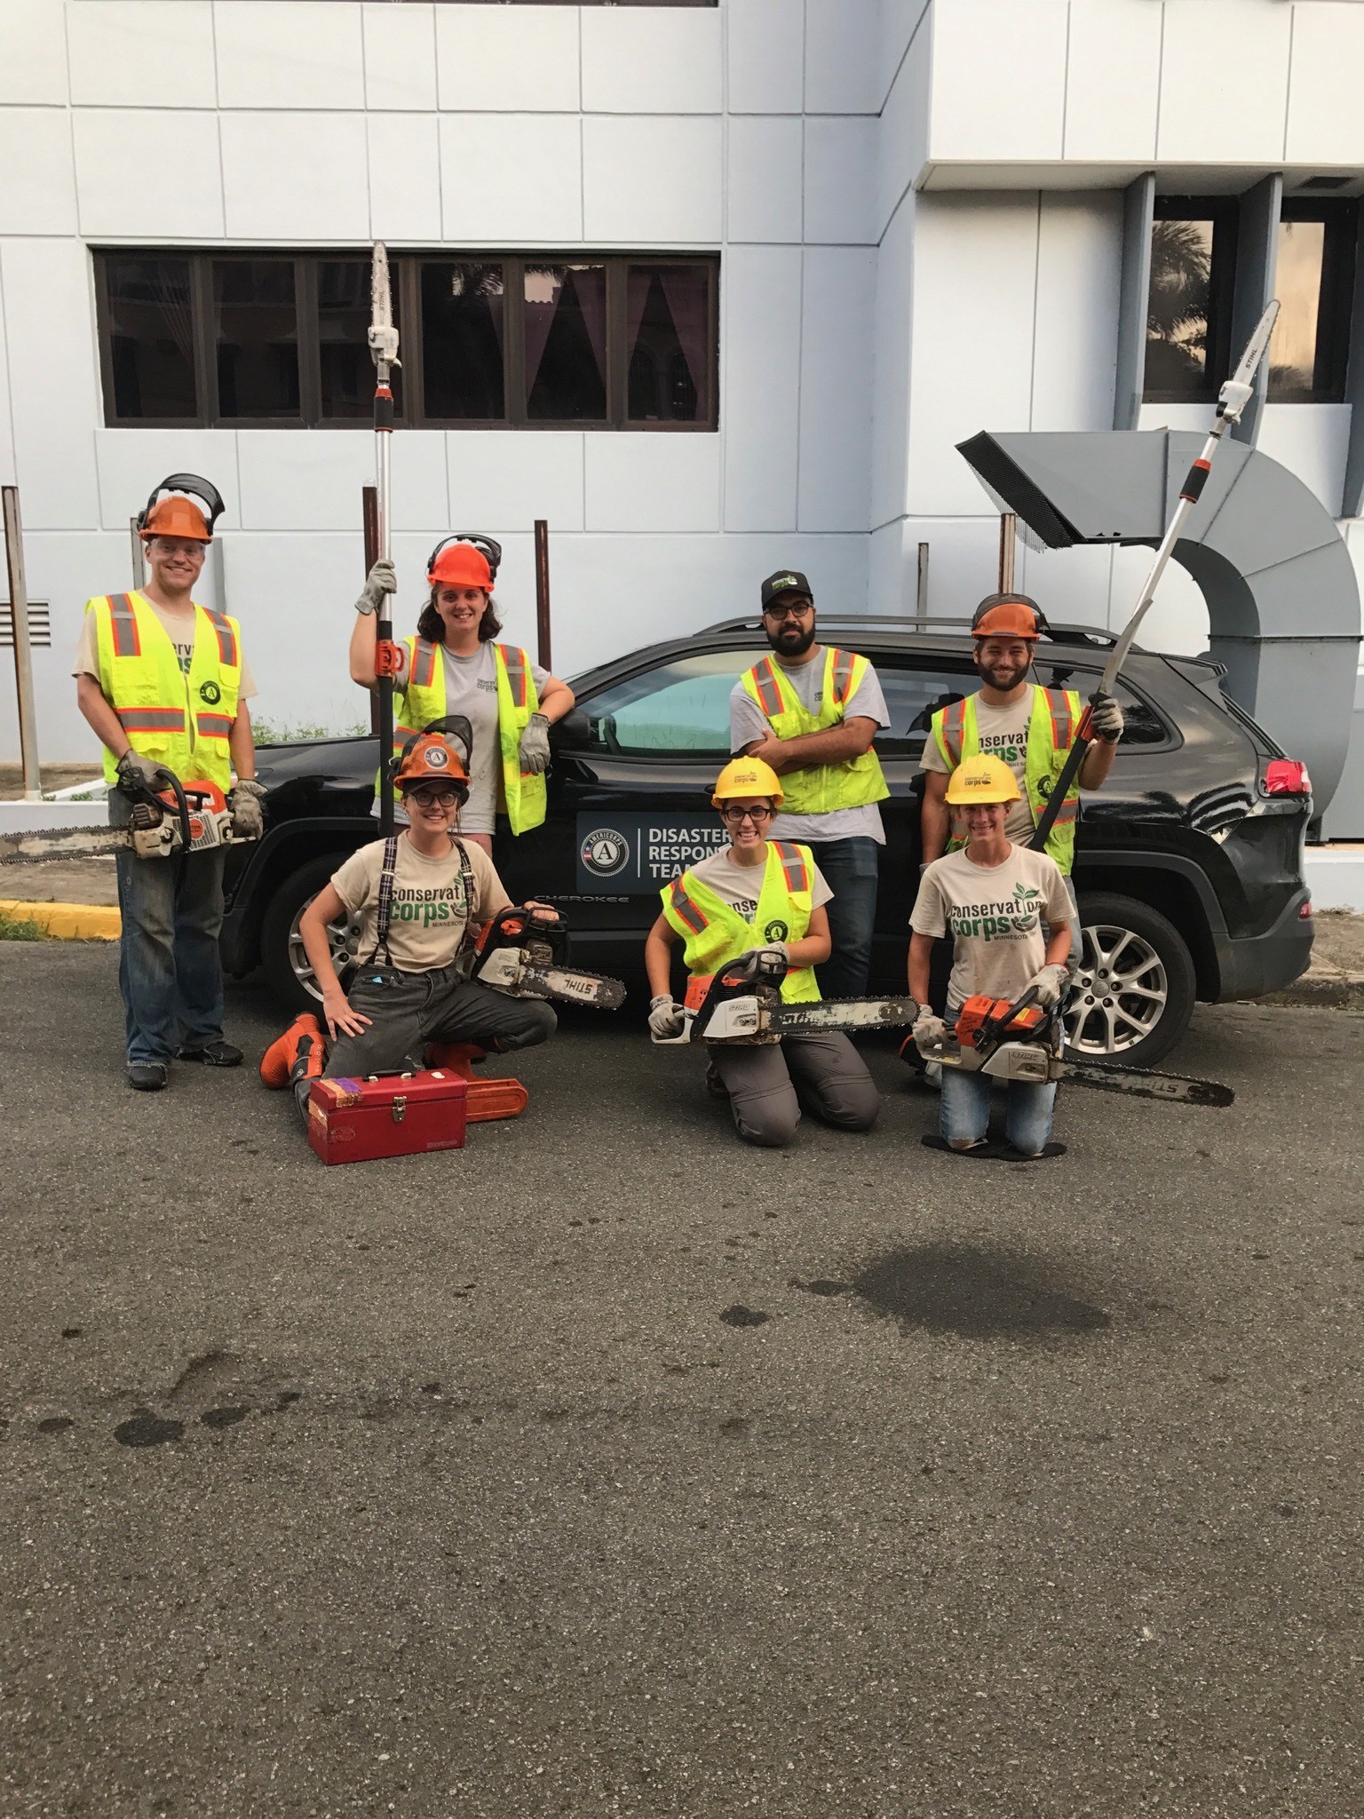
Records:
{"label": "narrow upper window reflecting a palm, left of the right-hand pair", "polygon": [[1146,398],[1215,398],[1229,366],[1235,196],[1157,196],[1146,304]]}

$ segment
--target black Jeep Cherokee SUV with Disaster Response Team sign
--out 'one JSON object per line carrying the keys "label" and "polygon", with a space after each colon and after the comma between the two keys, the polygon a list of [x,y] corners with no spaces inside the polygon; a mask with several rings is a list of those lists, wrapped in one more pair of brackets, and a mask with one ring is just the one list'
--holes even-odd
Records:
{"label": "black Jeep Cherokee SUV with Disaster Response Team sign", "polygon": [[[877,666],[891,728],[877,739],[891,797],[877,911],[877,988],[904,990],[918,877],[918,804],[929,715],[978,686],[962,626],[820,618],[820,638]],[[1088,697],[1111,637],[1058,626],[1035,675]],[[729,757],[729,689],[766,653],[760,628],[727,620],[578,677],[578,709],[551,733],[549,815],[495,859],[513,899],[564,906],[573,959],[638,977],[658,888],[722,842],[709,786]],[[1075,884],[1084,962],[1071,1042],[1149,1066],[1197,999],[1273,991],[1311,951],[1302,844],[1311,797],[1300,766],[1231,702],[1217,666],[1133,649],[1118,698],[1128,729],[1106,786],[1082,799]],[[340,860],[376,833],[375,739],[266,746],[266,837],[229,853],[224,962],[266,971],[282,1010],[309,1002],[298,917]],[[340,959],[349,926],[333,930]],[[315,995],[315,993],[313,993]]]}

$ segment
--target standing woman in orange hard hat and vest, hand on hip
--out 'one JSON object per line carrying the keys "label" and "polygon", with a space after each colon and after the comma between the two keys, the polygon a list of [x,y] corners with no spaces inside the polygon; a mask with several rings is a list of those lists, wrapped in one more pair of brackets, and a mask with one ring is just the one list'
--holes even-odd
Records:
{"label": "standing woman in orange hard hat and vest, hand on hip", "polygon": [[[416,635],[393,649],[393,740],[404,740],[451,715],[473,729],[469,800],[460,833],[493,851],[498,811],[513,833],[538,828],[546,817],[549,728],[573,708],[573,689],[531,662],[517,644],[498,644],[502,622],[493,600],[502,546],[473,531],[446,537],[431,551],[431,586]],[[351,633],[351,678],[376,684],[375,615],[396,591],[391,562],[375,562]]]}

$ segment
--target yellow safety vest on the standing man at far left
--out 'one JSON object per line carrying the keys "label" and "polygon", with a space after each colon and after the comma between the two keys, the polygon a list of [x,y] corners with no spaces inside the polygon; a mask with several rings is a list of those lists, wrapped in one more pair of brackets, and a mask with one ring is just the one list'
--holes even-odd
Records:
{"label": "yellow safety vest on the standing man at far left", "polygon": [[[95,613],[100,689],[133,751],[155,759],[184,782],[202,779],[227,793],[233,760],[227,735],[242,686],[242,637],[235,618],[195,606],[189,675],[175,644],[140,593],[105,593],[85,602]],[[118,780],[118,760],[104,751],[104,780]]]}

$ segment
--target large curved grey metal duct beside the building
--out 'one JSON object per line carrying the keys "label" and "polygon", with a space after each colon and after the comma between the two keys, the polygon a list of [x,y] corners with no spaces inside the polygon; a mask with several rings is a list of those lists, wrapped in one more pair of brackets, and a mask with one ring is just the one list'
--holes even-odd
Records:
{"label": "large curved grey metal duct beside the building", "polygon": [[[1202,440],[1178,429],[982,431],[958,449],[1048,548],[1155,548]],[[1360,642],[1359,582],[1335,520],[1288,467],[1226,442],[1175,560],[1208,602],[1228,693],[1306,759],[1320,815],[1346,762]]]}

